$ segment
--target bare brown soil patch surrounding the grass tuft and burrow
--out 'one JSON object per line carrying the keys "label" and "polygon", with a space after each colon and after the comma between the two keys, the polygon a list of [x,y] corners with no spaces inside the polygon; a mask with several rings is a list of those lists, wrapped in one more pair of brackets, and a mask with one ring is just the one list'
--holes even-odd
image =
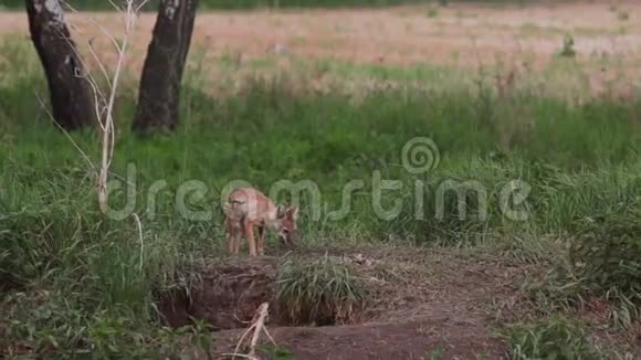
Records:
{"label": "bare brown soil patch surrounding the grass tuft and burrow", "polygon": [[233,352],[240,329],[262,301],[271,301],[270,332],[296,359],[420,359],[439,347],[445,359],[496,359],[505,346],[494,333],[494,304],[518,297],[527,274],[537,271],[479,250],[361,247],[304,256],[330,256],[362,279],[368,303],[358,319],[290,327],[274,303],[277,256],[212,261],[190,301],[177,297],[161,301],[160,309],[171,325],[186,325],[191,316],[220,330],[214,332],[219,353]]}

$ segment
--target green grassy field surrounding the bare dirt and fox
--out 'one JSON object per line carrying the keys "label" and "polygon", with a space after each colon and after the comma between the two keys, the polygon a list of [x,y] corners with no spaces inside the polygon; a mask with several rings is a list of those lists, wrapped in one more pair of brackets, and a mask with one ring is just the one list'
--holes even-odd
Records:
{"label": "green grassy field surrounding the bare dirt and fox", "polygon": [[[519,299],[511,308],[516,315],[492,309],[512,358],[613,357],[612,351],[622,356],[638,348],[641,98],[635,94],[592,96],[584,88],[568,97],[555,88],[556,76],[547,87],[527,78],[511,83],[501,81],[508,77],[501,66],[481,73],[296,56],[284,67],[277,56],[239,65],[229,55],[207,57],[197,45],[174,135],[140,139],[129,133],[137,78],[129,70],[117,102],[112,179],[130,182],[124,188],[134,190],[133,208],[126,208],[126,191],[116,191],[111,204],[126,211],[109,219],[97,209],[95,172],[82,155],[97,161],[97,133],[72,134],[70,141],[39,106],[39,97],[48,99],[46,86],[30,43],[6,38],[0,47],[3,356],[218,353],[203,322],[162,325],[157,300],[164,292],[197,287],[203,277],[198,269],[227,257],[220,204],[232,180],[265,191],[282,180],[318,189],[320,201],[307,192],[300,203],[309,253],[298,256],[315,262],[283,263],[277,278],[291,319],[328,311],[309,313],[318,299],[349,318],[355,304],[371,296],[350,275],[353,268],[314,254],[391,246],[388,255],[371,255],[376,262],[409,247],[402,256],[425,262],[424,273],[398,273],[401,266],[395,265],[387,274],[427,288],[425,278],[438,274],[433,264],[442,258],[461,262],[461,268],[474,265],[474,272],[485,268],[495,283],[505,279],[498,279],[494,263],[526,269],[519,277],[526,286],[511,293]],[[550,66],[582,65],[560,59]],[[422,148],[425,157],[406,151],[417,138],[433,141]],[[428,170],[408,171],[424,161]],[[377,178],[398,181],[380,195],[383,209],[400,204],[391,218],[377,207]],[[346,186],[359,180],[349,211],[333,219],[332,211],[345,203]],[[474,191],[462,198],[440,192],[465,183],[486,201]],[[515,183],[516,198],[504,198]],[[178,195],[185,191],[192,193]],[[527,216],[516,219],[506,205]],[[275,236],[269,247],[277,247]],[[448,253],[422,255],[423,247]],[[490,253],[493,260],[463,256],[467,253]]]}

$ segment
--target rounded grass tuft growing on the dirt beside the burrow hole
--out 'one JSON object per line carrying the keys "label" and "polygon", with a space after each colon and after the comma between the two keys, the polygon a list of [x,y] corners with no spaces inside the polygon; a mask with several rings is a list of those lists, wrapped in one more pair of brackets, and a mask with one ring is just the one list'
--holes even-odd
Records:
{"label": "rounded grass tuft growing on the dirt beside the burrow hole", "polygon": [[328,256],[314,262],[285,258],[276,287],[279,306],[293,325],[350,322],[365,303],[365,292],[349,268]]}

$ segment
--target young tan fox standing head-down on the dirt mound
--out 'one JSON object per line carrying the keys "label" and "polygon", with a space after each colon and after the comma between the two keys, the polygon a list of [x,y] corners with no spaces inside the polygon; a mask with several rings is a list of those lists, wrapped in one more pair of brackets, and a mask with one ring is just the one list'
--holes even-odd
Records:
{"label": "young tan fox standing head-down on the dirt mound", "polygon": [[[295,246],[300,239],[298,207],[276,205],[254,188],[233,190],[223,204],[225,214],[227,247],[231,254],[240,252],[242,237],[246,237],[250,256],[264,255],[265,227],[279,233],[281,242]],[[254,227],[259,231],[258,244]]]}

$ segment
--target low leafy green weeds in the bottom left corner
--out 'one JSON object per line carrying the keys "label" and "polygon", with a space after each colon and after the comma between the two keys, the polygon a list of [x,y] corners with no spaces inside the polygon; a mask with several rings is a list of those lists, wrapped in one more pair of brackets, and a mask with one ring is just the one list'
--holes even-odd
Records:
{"label": "low leafy green weeds in the bottom left corner", "polygon": [[86,311],[73,294],[14,293],[0,303],[0,354],[48,359],[166,358],[211,350],[210,329],[201,324],[170,329],[150,326],[140,314],[123,311],[125,305]]}

